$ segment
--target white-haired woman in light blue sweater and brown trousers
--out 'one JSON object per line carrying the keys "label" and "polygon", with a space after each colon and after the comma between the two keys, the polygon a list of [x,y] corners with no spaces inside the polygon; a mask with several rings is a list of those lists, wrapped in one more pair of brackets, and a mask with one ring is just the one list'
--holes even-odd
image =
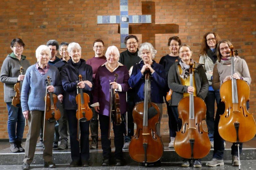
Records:
{"label": "white-haired woman in light blue sweater and brown trousers", "polygon": [[[44,128],[45,90],[60,94],[63,91],[59,71],[48,64],[51,55],[50,48],[40,45],[36,50],[37,63],[30,66],[23,80],[21,92],[21,106],[23,115],[28,119],[29,129],[25,145],[24,164],[22,169],[30,169],[36,142],[41,128]],[[46,87],[47,76],[50,76],[51,86]],[[52,142],[54,139],[54,123],[45,121],[45,149],[43,152],[44,167],[54,168],[52,162]]]}

